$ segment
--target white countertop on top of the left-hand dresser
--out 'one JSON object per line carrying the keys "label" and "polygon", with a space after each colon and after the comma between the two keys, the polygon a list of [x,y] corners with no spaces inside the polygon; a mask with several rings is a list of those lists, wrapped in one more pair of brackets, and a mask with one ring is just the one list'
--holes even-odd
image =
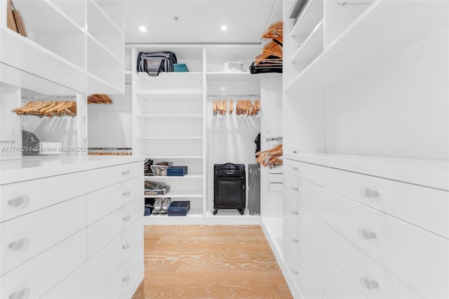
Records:
{"label": "white countertop on top of the left-hand dresser", "polygon": [[[0,185],[144,161],[142,156],[27,157],[0,161]],[[143,173],[143,164],[142,164]]]}

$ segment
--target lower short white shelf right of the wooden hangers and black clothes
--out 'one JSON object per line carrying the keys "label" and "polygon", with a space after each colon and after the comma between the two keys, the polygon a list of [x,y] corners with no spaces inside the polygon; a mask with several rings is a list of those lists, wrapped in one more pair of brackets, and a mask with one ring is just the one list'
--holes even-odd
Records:
{"label": "lower short white shelf right of the wooden hangers and black clothes", "polygon": [[302,45],[297,49],[293,58],[290,60],[291,63],[310,63],[312,62],[321,52],[323,52],[323,35],[324,35],[324,20],[321,20],[309,37],[302,43]]}

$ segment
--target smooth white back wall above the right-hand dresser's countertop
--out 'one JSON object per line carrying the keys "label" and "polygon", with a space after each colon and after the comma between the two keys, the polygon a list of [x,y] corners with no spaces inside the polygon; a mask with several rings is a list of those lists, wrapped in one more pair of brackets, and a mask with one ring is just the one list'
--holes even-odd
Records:
{"label": "smooth white back wall above the right-hand dresser's countertop", "polygon": [[443,29],[328,91],[326,152],[448,159],[447,34]]}

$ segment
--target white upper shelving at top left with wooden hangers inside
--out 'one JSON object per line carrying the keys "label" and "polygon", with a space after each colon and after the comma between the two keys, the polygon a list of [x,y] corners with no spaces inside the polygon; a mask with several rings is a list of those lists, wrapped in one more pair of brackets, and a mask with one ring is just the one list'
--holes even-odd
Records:
{"label": "white upper shelving at top left with wooden hangers inside", "polygon": [[[22,15],[27,37],[9,29],[6,18],[2,19],[2,81],[41,93],[48,93],[36,83],[41,78],[65,86],[67,93],[123,93],[122,1],[15,0],[13,4]],[[6,1],[0,5],[6,15]],[[17,75],[16,69],[23,73]],[[36,79],[25,78],[27,74]]]}

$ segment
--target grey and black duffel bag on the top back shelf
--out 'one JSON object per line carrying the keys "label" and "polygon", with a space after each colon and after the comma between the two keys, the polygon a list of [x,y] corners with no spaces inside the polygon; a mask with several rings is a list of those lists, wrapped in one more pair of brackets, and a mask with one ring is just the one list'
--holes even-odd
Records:
{"label": "grey and black duffel bag on the top back shelf", "polygon": [[149,76],[159,76],[160,72],[173,72],[175,63],[177,63],[177,58],[173,52],[140,52],[137,64],[138,72],[146,72]]}

